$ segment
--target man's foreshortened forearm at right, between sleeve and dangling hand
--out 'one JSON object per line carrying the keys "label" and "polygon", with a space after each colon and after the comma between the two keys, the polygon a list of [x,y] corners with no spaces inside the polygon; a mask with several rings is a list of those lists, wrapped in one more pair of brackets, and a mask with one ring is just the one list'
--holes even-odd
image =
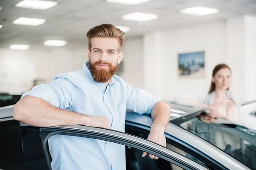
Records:
{"label": "man's foreshortened forearm at right, between sleeve and dangling hand", "polygon": [[170,120],[170,113],[171,108],[169,105],[163,101],[158,102],[151,112],[151,117],[153,119],[151,129],[157,127],[164,130]]}

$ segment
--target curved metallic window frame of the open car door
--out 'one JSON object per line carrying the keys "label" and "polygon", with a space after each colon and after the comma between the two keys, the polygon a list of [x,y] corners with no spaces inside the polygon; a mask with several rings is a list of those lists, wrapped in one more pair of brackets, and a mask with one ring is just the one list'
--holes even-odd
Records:
{"label": "curved metallic window frame of the open car door", "polygon": [[146,139],[122,133],[115,130],[108,130],[104,128],[97,127],[87,127],[87,126],[58,126],[58,127],[41,127],[40,128],[41,139],[43,142],[44,152],[47,157],[49,170],[51,170],[49,152],[47,150],[47,141],[53,135],[70,135],[70,136],[80,136],[88,137],[92,139],[105,140],[109,142],[114,142],[117,144],[123,144],[125,146],[134,147],[139,150],[143,150],[147,153],[151,153],[155,156],[165,159],[172,164],[176,164],[186,170],[207,170],[207,168],[201,166],[200,164],[169,150],[166,147],[160,146],[154,142],[150,142]]}

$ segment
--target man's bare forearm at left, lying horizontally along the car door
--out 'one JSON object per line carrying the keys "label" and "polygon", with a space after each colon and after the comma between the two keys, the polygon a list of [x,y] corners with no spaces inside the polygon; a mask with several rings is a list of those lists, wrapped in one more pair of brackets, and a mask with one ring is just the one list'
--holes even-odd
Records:
{"label": "man's bare forearm at left, lying horizontally along the car door", "polygon": [[39,127],[59,125],[84,125],[86,115],[66,111],[50,105],[43,99],[26,96],[15,105],[16,120]]}

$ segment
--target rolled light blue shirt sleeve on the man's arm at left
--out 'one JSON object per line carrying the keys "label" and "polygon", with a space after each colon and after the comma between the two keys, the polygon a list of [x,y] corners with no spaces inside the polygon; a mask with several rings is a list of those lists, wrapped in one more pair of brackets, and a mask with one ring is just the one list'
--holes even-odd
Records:
{"label": "rolled light blue shirt sleeve on the man's arm at left", "polygon": [[44,99],[51,105],[67,109],[71,108],[77,87],[65,78],[57,78],[47,84],[37,85],[31,91],[25,92],[21,98],[25,96],[34,96]]}

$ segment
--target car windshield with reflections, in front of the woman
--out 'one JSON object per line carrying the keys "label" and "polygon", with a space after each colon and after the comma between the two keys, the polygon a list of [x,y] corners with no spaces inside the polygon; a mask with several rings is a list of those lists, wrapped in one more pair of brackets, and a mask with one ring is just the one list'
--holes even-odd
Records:
{"label": "car windshield with reflections, in front of the woman", "polygon": [[170,121],[201,137],[215,147],[256,170],[256,132],[204,112],[193,113]]}

